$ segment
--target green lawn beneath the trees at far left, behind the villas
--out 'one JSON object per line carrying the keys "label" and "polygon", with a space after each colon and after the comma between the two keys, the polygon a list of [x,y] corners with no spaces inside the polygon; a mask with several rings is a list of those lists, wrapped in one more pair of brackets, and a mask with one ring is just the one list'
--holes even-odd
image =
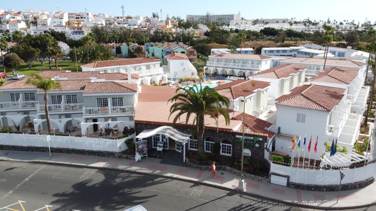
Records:
{"label": "green lawn beneath the trees at far left, behind the villas", "polygon": [[[76,65],[74,65],[73,62],[71,62],[71,66],[68,65],[69,64],[69,61],[58,61],[58,68],[57,69],[64,69],[64,70],[70,70],[70,71],[76,71]],[[78,70],[81,71],[81,67],[80,67],[81,63],[77,63],[77,66],[78,66]],[[22,62],[21,63],[21,66],[19,66],[18,68],[16,68],[16,71],[15,73],[22,73],[24,75],[30,75],[30,74],[33,74],[34,72],[38,72],[39,71],[39,68],[42,68],[42,70],[46,70],[46,69],[49,69],[49,65],[48,65],[48,61],[47,62],[43,62],[43,65],[41,65],[41,62],[35,62],[32,66],[31,69],[29,69],[29,66],[27,66],[27,63],[25,62]],[[52,62],[51,63],[51,68],[52,69],[56,69],[55,68],[55,62]],[[11,69],[9,68],[5,68],[6,70],[6,74],[7,75],[12,75],[12,71]]]}

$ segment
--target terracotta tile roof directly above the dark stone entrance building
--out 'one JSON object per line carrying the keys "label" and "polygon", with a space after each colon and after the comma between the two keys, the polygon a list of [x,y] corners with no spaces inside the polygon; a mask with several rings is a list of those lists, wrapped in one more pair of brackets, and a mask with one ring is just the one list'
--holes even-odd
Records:
{"label": "terracotta tile roof directly above the dark stone entrance building", "polygon": [[[142,91],[141,91],[142,92]],[[136,103],[135,108],[135,123],[138,124],[151,124],[151,125],[172,125],[174,115],[170,115],[170,107],[172,102],[143,102]],[[156,112],[158,111],[158,112]],[[226,131],[230,133],[241,133],[243,125],[243,113],[235,112],[229,110],[230,115],[230,125],[226,125],[223,116],[218,118],[218,128],[220,131]],[[241,120],[240,120],[241,117]],[[245,121],[246,134],[254,134],[261,136],[268,136],[270,139],[275,133],[267,131],[264,128],[270,127],[270,123],[265,122],[261,119],[255,118],[253,116],[247,115]],[[186,115],[182,115],[180,119],[176,122],[176,126],[181,127],[192,127],[192,124],[185,124]],[[191,116],[188,122],[193,121],[193,116]],[[239,129],[241,128],[241,129]],[[217,124],[215,120],[206,115],[205,116],[205,130],[217,130]]]}

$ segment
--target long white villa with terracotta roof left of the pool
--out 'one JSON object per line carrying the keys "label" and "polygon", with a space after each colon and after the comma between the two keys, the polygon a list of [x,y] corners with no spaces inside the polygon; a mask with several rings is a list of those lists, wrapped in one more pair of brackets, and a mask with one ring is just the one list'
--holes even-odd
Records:
{"label": "long white villa with terracotta roof left of the pool", "polygon": [[137,84],[158,84],[167,81],[167,74],[160,66],[161,60],[135,58],[92,62],[81,65],[82,71],[120,72],[124,74],[138,74]]}

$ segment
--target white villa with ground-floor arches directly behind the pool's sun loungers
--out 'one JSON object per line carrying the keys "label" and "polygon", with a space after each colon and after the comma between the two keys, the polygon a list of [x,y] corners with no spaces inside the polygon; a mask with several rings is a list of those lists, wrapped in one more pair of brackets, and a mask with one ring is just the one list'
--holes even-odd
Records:
{"label": "white villa with ground-floor arches directly behind the pool's sun loungers", "polygon": [[209,56],[206,74],[225,74],[248,77],[271,66],[271,57],[256,54],[220,53]]}

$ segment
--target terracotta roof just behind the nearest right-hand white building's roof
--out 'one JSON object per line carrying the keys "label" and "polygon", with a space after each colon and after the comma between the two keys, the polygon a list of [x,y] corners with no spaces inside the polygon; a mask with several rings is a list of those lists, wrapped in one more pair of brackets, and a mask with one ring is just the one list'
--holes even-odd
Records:
{"label": "terracotta roof just behind the nearest right-hand white building's roof", "polygon": [[317,76],[309,78],[309,81],[350,84],[357,76],[359,70],[344,67],[332,67],[319,72]]}

